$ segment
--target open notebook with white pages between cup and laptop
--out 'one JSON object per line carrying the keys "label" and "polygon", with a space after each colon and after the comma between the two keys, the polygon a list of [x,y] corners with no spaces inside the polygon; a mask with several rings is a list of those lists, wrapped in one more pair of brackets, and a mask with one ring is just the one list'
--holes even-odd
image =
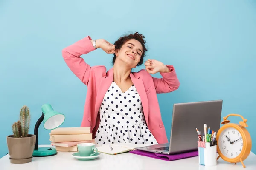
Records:
{"label": "open notebook with white pages between cup and laptop", "polygon": [[[110,155],[116,155],[119,153],[125,153],[134,150],[135,147],[150,146],[151,144],[131,144],[131,143],[113,143],[97,145],[98,152],[107,153]],[[112,147],[113,150],[110,148]]]}

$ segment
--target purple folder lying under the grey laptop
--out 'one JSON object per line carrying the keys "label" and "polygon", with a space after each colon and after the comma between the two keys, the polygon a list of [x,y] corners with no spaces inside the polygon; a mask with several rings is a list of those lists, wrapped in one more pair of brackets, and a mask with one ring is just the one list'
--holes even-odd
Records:
{"label": "purple folder lying under the grey laptop", "polygon": [[192,152],[186,152],[186,153],[177,153],[173,155],[165,155],[162,153],[152,153],[152,152],[147,152],[143,150],[132,150],[130,153],[134,153],[137,155],[142,155],[142,156],[148,156],[151,158],[156,158],[156,159],[162,159],[165,161],[173,161],[177,159],[184,159],[184,158],[190,158],[194,156],[198,156],[198,150],[192,151]]}

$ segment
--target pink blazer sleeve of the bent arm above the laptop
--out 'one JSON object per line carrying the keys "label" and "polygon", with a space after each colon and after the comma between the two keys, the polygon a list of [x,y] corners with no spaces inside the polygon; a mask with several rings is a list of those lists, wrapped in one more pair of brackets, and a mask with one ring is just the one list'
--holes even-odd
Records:
{"label": "pink blazer sleeve of the bent arm above the laptop", "polygon": [[166,65],[171,72],[160,73],[163,78],[153,77],[154,86],[157,93],[169,93],[179,88],[180,82],[172,65]]}

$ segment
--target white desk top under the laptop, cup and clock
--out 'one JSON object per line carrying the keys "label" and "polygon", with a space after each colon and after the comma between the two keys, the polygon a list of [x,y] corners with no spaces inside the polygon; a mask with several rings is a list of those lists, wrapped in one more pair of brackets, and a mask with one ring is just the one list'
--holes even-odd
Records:
{"label": "white desk top under the laptop, cup and clock", "polygon": [[198,164],[198,156],[164,161],[132,153],[113,156],[101,153],[97,159],[80,161],[73,158],[72,153],[58,152],[55,156],[33,157],[32,162],[26,164],[11,164],[8,154],[0,159],[0,170],[256,170],[256,155],[252,152],[244,160],[246,168],[243,168],[241,163],[229,164],[221,158],[218,159],[216,166],[205,167]]}

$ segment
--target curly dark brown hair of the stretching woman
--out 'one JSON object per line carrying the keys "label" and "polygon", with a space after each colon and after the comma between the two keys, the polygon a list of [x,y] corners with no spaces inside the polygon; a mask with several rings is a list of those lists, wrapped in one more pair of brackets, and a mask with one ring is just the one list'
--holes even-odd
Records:
{"label": "curly dark brown hair of the stretching woman", "polygon": [[[118,40],[116,40],[116,42],[114,43],[115,49],[120,49],[122,48],[122,45],[125,44],[125,42],[127,42],[128,40],[131,39],[135,39],[138,40],[141,45],[142,45],[142,54],[140,56],[140,62],[138,62],[137,66],[140,66],[143,64],[143,59],[145,57],[145,52],[148,51],[148,49],[145,47],[145,43],[146,41],[144,40],[145,36],[143,36],[142,34],[139,34],[138,32],[135,32],[134,34],[129,34],[129,35],[125,35],[123,37],[120,37]],[[114,53],[114,57],[113,57],[113,64],[116,61],[116,54]]]}

